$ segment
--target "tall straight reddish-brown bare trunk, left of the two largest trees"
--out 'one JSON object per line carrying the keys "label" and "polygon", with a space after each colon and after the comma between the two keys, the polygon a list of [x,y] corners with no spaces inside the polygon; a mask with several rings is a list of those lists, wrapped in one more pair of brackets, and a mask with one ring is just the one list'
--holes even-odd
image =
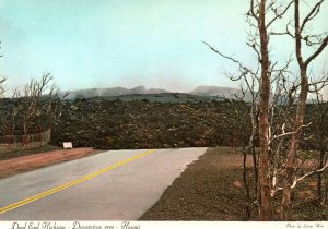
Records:
{"label": "tall straight reddish-brown bare trunk, left of the two largest trees", "polygon": [[266,0],[260,3],[259,34],[261,51],[261,80],[260,80],[260,107],[259,107],[259,219],[272,219],[271,189],[270,189],[270,152],[269,152],[269,100],[270,100],[270,61],[269,37],[266,26]]}

